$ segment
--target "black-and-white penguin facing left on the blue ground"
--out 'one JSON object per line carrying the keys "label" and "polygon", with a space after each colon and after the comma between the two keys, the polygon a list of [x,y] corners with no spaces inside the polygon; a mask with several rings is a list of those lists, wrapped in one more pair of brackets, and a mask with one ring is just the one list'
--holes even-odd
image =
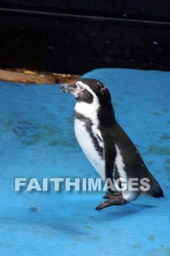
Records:
{"label": "black-and-white penguin facing left on the blue ground", "polygon": [[[75,84],[63,84],[60,89],[73,94],[76,99],[74,132],[82,151],[104,181],[109,179],[112,184],[117,184],[108,186],[104,196],[107,200],[96,210],[125,205],[139,195],[164,197],[161,186],[147,169],[136,146],[117,123],[107,87],[99,80],[81,78]],[[142,187],[138,182],[134,189],[133,179],[145,179],[148,186]]]}

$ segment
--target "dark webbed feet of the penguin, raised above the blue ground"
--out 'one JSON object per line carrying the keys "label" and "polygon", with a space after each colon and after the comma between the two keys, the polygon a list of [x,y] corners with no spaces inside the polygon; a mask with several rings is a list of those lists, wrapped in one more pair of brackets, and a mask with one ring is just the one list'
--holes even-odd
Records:
{"label": "dark webbed feet of the penguin, raised above the blue ground", "polygon": [[[122,194],[117,195],[118,193],[115,194],[107,194],[107,196],[109,197],[109,200],[104,201],[104,203],[101,203],[99,206],[96,207],[96,210],[102,210],[103,208],[109,207],[109,206],[122,206],[125,203],[128,203],[127,200],[125,200],[123,198]],[[108,198],[107,197],[107,198]]]}

